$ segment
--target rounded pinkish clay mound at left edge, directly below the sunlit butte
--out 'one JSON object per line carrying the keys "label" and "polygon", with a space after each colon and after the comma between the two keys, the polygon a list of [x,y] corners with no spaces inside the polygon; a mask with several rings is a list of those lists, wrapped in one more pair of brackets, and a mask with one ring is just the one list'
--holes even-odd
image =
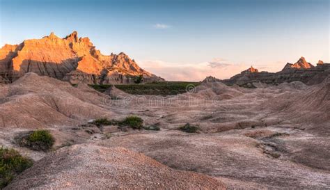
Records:
{"label": "rounded pinkish clay mound at left edge, directly below the sunlit butte", "polygon": [[81,120],[112,115],[102,108],[107,95],[80,84],[27,73],[0,86],[1,127],[29,128],[77,125]]}

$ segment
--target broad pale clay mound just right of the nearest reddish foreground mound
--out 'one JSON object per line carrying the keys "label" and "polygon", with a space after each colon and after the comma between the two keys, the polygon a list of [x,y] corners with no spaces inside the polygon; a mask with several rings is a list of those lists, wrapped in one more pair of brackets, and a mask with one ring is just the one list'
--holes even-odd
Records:
{"label": "broad pale clay mound just right of the nearest reddish foreground mound", "polygon": [[[329,148],[327,143],[329,139],[313,138],[315,143],[308,145],[311,141],[307,141],[306,138],[294,136],[290,140],[291,136],[286,135],[286,132],[290,133],[292,129],[281,131],[271,127],[263,129],[259,137],[267,139],[266,145],[269,147],[267,146],[266,150],[273,146],[281,154],[280,158],[274,159],[260,148],[264,142],[258,139],[258,136],[253,136],[255,138],[246,136],[246,133],[260,131],[261,129],[256,131],[244,129],[212,135],[164,131],[113,137],[100,142],[100,145],[125,147],[152,157],[171,168],[221,177],[221,182],[226,183],[228,189],[288,189],[288,187],[327,189],[329,187],[329,171],[314,170],[285,158],[285,154],[289,151],[287,148],[290,149],[292,145],[306,145],[308,148],[317,145],[318,153],[300,152],[300,146],[290,151],[294,157],[304,155],[311,160],[317,159],[317,161],[306,161],[309,166],[313,162],[327,166],[329,164],[325,156],[320,158],[319,155],[329,155],[324,152]],[[228,179],[239,180],[242,184],[232,187],[231,183],[227,182]],[[258,186],[250,187],[250,182],[255,182]]]}

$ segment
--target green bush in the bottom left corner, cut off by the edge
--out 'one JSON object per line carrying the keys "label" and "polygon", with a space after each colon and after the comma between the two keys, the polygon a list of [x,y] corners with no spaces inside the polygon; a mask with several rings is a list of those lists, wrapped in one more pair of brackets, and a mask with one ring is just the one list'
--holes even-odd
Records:
{"label": "green bush in the bottom left corner, cut off by the edge", "polygon": [[6,187],[13,178],[30,168],[33,161],[19,155],[13,148],[0,148],[0,189]]}

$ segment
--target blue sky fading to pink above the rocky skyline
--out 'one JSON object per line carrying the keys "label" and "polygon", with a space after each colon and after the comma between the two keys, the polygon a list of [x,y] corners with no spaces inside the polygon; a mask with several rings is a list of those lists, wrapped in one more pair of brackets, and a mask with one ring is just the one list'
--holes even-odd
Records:
{"label": "blue sky fading to pink above the rocky skyline", "polygon": [[0,0],[0,46],[52,31],[171,81],[330,63],[329,0]]}

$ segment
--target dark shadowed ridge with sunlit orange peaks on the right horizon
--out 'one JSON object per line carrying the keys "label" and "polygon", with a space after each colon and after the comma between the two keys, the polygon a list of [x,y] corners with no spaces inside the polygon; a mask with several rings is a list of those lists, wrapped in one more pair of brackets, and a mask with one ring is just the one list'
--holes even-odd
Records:
{"label": "dark shadowed ridge with sunlit orange peaks on the right horizon", "polygon": [[320,84],[330,74],[330,64],[319,61],[317,66],[308,63],[304,57],[297,63],[287,63],[280,72],[258,72],[251,67],[222,82],[227,85],[251,86],[255,82],[265,84],[281,84],[284,82],[301,81],[304,84]]}

